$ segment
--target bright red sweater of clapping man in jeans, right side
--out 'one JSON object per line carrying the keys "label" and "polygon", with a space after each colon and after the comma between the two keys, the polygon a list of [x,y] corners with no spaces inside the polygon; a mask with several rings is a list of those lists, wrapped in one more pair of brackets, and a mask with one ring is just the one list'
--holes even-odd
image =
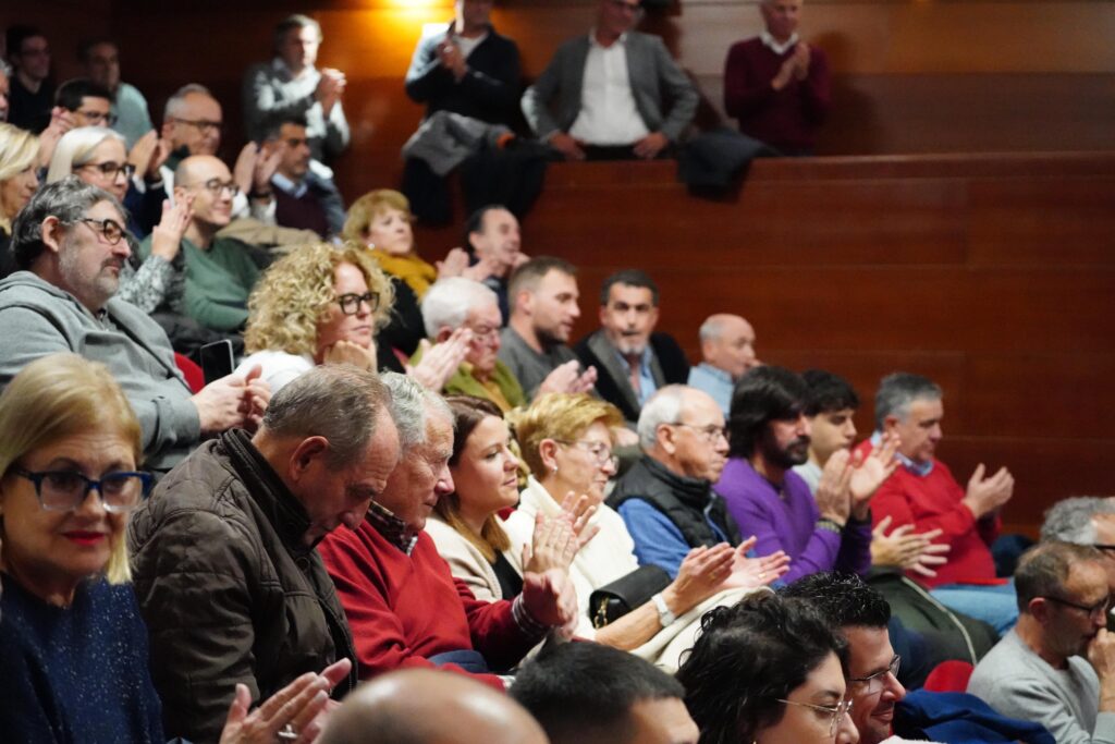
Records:
{"label": "bright red sweater of clapping man in jeans, right side", "polygon": [[[857,447],[866,456],[871,443]],[[928,587],[946,583],[988,583],[995,581],[995,561],[988,548],[999,535],[998,516],[977,520],[964,504],[964,489],[952,477],[944,463],[934,458],[933,470],[922,477],[901,465],[871,500],[875,524],[884,516],[893,521],[891,528],[915,524],[918,532],[940,529],[938,542],[948,542],[949,562],[937,568],[937,576],[927,578],[908,573],[911,579]]]}

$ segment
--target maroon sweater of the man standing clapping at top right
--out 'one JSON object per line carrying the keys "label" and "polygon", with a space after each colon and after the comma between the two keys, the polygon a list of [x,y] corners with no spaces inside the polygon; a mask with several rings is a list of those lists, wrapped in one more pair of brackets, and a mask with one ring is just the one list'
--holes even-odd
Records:
{"label": "maroon sweater of the man standing clapping at top right", "polygon": [[789,154],[812,151],[830,103],[828,60],[809,47],[809,74],[796,77],[782,90],[770,80],[794,54],[777,55],[758,37],[728,50],[724,66],[724,108],[739,119],[739,131]]}

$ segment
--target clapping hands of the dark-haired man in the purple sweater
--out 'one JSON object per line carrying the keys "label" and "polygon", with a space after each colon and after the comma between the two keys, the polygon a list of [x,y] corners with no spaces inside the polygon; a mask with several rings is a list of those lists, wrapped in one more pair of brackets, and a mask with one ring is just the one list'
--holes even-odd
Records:
{"label": "clapping hands of the dark-haired man in the purple sweater", "polygon": [[847,450],[833,453],[821,472],[815,494],[821,516],[840,525],[846,524],[850,515],[867,519],[871,497],[899,466],[895,454],[901,444],[896,435],[884,434],[866,457]]}

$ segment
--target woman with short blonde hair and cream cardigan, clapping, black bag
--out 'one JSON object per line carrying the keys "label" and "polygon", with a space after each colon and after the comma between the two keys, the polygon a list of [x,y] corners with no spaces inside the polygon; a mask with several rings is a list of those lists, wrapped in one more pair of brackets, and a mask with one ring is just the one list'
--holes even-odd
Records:
{"label": "woman with short blonde hair and cream cardigan, clapping, black bag", "polygon": [[[727,543],[697,548],[685,558],[673,581],[666,582],[651,601],[601,628],[590,620],[592,592],[637,569],[634,542],[615,511],[603,504],[604,487],[615,475],[612,429],[623,425],[615,406],[584,393],[554,393],[540,397],[511,423],[531,470],[518,509],[507,519],[512,560],[531,541],[536,514],[553,516],[570,494],[584,494],[598,511],[590,525],[599,533],[580,550],[570,578],[581,602],[578,635],[622,649],[636,649],[660,630],[679,630],[679,618],[727,589],[754,589],[773,581],[768,559],[746,559],[753,541],[738,549]],[[759,577],[763,577],[762,579]],[[676,622],[677,620],[677,622]]]}

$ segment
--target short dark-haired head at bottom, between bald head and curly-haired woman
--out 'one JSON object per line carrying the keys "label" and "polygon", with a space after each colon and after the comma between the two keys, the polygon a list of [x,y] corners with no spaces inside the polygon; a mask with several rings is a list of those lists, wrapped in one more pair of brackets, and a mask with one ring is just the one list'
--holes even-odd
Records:
{"label": "short dark-haired head at bottom, between bald head and curly-haired woman", "polygon": [[652,664],[598,644],[544,649],[511,688],[552,744],[697,744],[685,694]]}

